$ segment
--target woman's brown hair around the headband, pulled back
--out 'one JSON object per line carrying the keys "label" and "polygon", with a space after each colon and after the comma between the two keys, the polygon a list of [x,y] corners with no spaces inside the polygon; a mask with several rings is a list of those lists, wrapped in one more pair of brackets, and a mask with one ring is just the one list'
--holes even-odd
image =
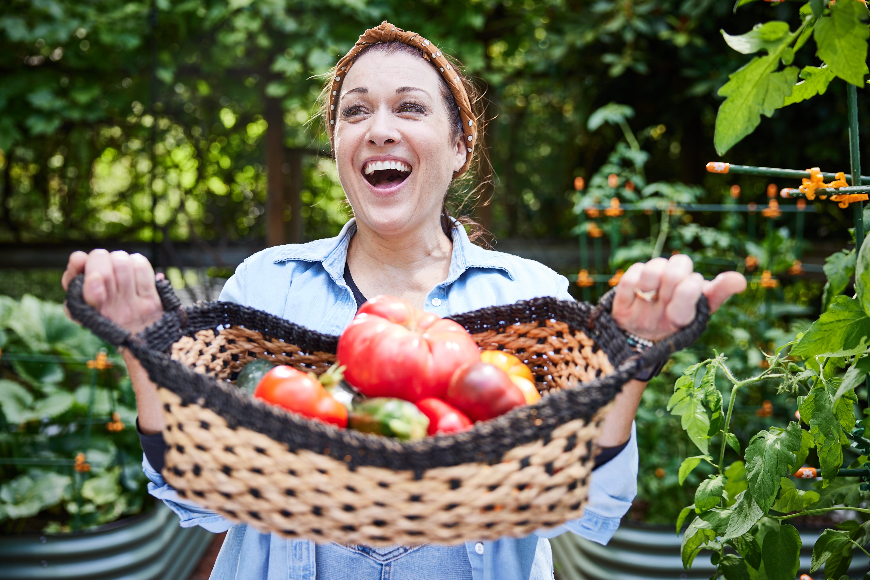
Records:
{"label": "woman's brown hair around the headband, pulled back", "polygon": [[[368,46],[363,47],[361,50],[358,50],[354,59],[362,56],[370,50],[378,52],[384,51],[387,54],[404,53],[408,55],[416,55],[429,63],[430,66],[438,72],[440,94],[450,119],[454,141],[464,132],[465,128],[463,127],[462,117],[460,117],[460,110],[453,91],[445,80],[444,75],[438,70],[438,65],[430,59],[429,55],[426,54],[424,50],[420,50],[412,44],[401,41],[371,43]],[[453,173],[452,183],[446,192],[444,203],[442,204],[441,228],[445,231],[447,237],[451,237],[450,231],[453,227],[451,210],[456,213],[472,211],[477,206],[482,191],[490,183],[491,175],[489,171],[489,159],[486,156],[483,143],[486,128],[485,118],[480,106],[483,96],[478,90],[476,83],[472,80],[472,77],[465,71],[465,67],[462,63],[459,63],[459,61],[453,57],[441,55],[440,51],[438,57],[444,58],[448,63],[450,63],[452,74],[455,74],[455,77],[458,78],[457,83],[461,83],[462,87],[465,89],[465,94],[467,95],[468,104],[473,117],[473,123],[476,126],[474,136],[476,138],[474,140],[477,142],[476,144],[478,144],[478,146],[473,147],[473,149],[469,148],[472,150],[468,153],[470,158],[466,160],[465,166],[461,170]],[[334,90],[333,85],[335,84],[334,79],[338,77],[338,73],[345,72],[346,74],[346,70],[338,70],[338,66],[341,62],[342,61],[339,60],[339,62],[336,63],[336,65],[328,72],[329,76],[326,77],[327,80],[324,84],[324,88],[321,90],[320,97],[318,98],[318,102],[320,103],[320,117],[322,119],[323,128],[330,137],[330,142],[332,142],[333,137],[332,126],[330,124],[331,107],[335,107],[336,112],[338,112],[338,107],[335,104],[337,101],[332,98],[332,91]],[[482,170],[483,168],[486,170]],[[484,242],[481,237],[485,236],[488,232],[485,232],[483,227],[472,217],[466,215],[455,219],[469,230],[468,237],[472,242]]]}

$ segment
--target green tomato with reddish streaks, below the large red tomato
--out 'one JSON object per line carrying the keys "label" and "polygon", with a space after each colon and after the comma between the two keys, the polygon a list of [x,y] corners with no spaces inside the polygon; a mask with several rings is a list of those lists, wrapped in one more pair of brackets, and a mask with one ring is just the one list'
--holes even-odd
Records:
{"label": "green tomato with reddish streaks, below the large red tomato", "polygon": [[422,439],[429,430],[429,418],[414,403],[375,397],[353,405],[347,426],[386,437]]}

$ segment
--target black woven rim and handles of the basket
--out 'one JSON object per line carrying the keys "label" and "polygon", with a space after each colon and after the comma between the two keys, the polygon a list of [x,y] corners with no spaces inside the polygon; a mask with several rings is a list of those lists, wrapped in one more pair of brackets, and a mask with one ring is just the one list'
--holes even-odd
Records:
{"label": "black woven rim and handles of the basket", "polygon": [[612,293],[603,297],[599,307],[594,309],[589,304],[545,297],[453,317],[472,332],[508,323],[544,323],[547,318],[556,318],[575,329],[587,329],[589,323],[594,321],[593,330],[585,331],[592,332],[592,338],[605,350],[614,366],[618,366],[610,375],[584,383],[576,389],[559,390],[539,403],[519,407],[485,423],[477,423],[472,430],[464,433],[400,443],[389,437],[337,430],[325,423],[288,413],[252,399],[229,383],[198,374],[184,364],[171,360],[166,354],[171,344],[183,334],[217,330],[227,325],[257,330],[264,337],[284,340],[308,352],[334,353],[338,337],[307,330],[261,310],[220,302],[171,310],[151,328],[137,337],[131,337],[84,304],[81,290],[81,277],[78,277],[70,283],[67,295],[73,316],[97,336],[117,339],[124,333],[123,339],[117,343],[123,343],[131,350],[151,380],[176,393],[182,404],[198,404],[213,410],[224,417],[231,428],[258,431],[279,443],[286,443],[290,450],[305,449],[328,454],[344,459],[351,468],[371,465],[391,470],[414,470],[421,477],[423,471],[434,467],[475,462],[497,463],[506,451],[519,445],[549,441],[552,430],[559,425],[573,419],[589,422],[640,368],[666,360],[674,350],[692,343],[706,328],[709,317],[706,299],[702,297],[698,316],[693,323],[673,337],[656,343],[653,348],[646,350],[643,357],[637,356],[628,347],[624,335],[610,317]]}

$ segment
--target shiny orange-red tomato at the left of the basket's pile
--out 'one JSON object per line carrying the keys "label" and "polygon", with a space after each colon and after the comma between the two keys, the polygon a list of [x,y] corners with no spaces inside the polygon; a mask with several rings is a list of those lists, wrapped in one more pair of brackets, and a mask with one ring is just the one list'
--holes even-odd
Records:
{"label": "shiny orange-red tomato at the left of the basket's pile", "polygon": [[347,426],[347,407],[326,392],[317,379],[285,364],[264,375],[254,397],[305,417]]}

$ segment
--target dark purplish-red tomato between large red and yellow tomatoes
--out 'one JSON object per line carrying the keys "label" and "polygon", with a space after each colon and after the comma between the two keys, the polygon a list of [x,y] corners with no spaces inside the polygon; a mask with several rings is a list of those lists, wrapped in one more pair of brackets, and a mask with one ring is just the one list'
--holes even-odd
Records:
{"label": "dark purplish-red tomato between large red and yellow tomatoes", "polygon": [[447,388],[447,403],[472,421],[486,421],[524,405],[525,396],[511,377],[494,364],[468,363],[453,375]]}

